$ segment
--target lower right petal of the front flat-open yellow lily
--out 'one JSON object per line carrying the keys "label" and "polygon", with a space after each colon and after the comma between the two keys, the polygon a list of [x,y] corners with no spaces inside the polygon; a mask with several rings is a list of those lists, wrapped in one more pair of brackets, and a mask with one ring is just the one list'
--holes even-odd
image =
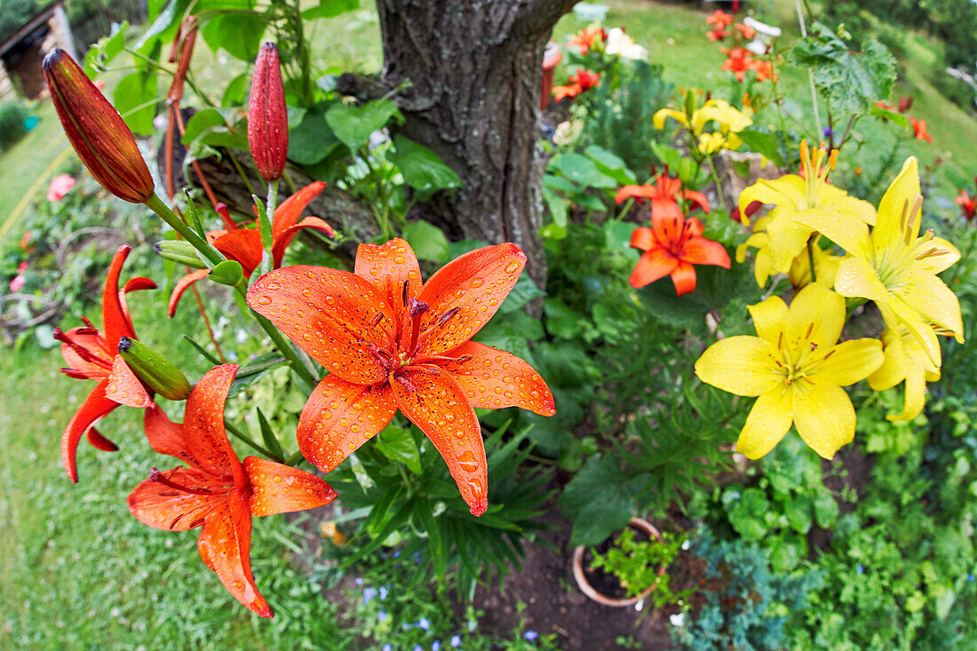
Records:
{"label": "lower right petal of the front flat-open yellow lily", "polygon": [[[815,286],[815,285],[808,285]],[[793,384],[793,420],[797,433],[814,452],[832,458],[855,438],[855,408],[844,389],[800,380]]]}

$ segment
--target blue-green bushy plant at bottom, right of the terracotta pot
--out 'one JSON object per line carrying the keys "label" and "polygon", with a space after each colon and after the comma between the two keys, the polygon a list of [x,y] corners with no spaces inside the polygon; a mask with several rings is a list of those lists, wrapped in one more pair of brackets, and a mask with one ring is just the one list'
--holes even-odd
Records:
{"label": "blue-green bushy plant at bottom, right of the terracotta pot", "polygon": [[764,548],[743,540],[719,541],[708,530],[693,540],[691,553],[705,562],[704,603],[689,621],[674,627],[672,639],[686,649],[794,648],[788,643],[789,613],[804,612],[807,595],[819,586],[817,572],[772,572]]}

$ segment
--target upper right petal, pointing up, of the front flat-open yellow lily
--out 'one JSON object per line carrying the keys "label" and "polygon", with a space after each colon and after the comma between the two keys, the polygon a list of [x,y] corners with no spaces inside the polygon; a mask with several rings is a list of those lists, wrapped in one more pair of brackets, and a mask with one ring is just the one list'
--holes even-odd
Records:
{"label": "upper right petal, pointing up, of the front flat-open yellow lily", "polygon": [[845,300],[824,285],[809,284],[790,303],[783,347],[795,361],[811,352],[811,344],[827,351],[844,325]]}

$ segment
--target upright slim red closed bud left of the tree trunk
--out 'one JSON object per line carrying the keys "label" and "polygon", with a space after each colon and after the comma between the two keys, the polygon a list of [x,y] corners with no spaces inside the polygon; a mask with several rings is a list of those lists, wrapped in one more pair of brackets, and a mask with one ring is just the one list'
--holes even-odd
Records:
{"label": "upright slim red closed bud left of the tree trunk", "polygon": [[261,46],[254,63],[247,108],[247,142],[261,176],[266,181],[279,178],[288,153],[288,112],[275,43]]}

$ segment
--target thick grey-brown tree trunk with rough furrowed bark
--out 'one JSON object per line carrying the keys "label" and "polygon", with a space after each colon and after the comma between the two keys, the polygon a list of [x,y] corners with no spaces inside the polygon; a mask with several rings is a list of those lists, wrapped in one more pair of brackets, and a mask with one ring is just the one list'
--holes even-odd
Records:
{"label": "thick grey-brown tree trunk with rough furrowed bark", "polygon": [[453,196],[420,206],[449,235],[514,241],[540,286],[542,56],[575,0],[378,0],[382,85],[398,94],[405,136],[461,178]]}

